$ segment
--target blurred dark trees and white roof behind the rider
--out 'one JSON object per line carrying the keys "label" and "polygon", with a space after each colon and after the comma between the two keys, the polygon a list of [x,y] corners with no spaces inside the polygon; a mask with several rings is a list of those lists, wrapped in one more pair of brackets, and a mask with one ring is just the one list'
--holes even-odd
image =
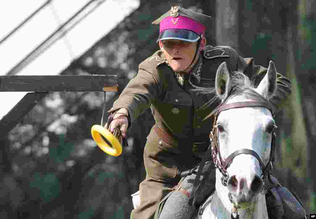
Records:
{"label": "blurred dark trees and white roof behind the rider", "polygon": [[[107,110],[138,65],[158,50],[151,22],[180,5],[212,16],[207,42],[292,81],[276,115],[274,174],[316,212],[316,7],[313,0],[33,0],[0,7],[0,75],[117,74]],[[1,92],[1,117],[25,95]],[[128,130],[129,147],[111,157],[94,143],[103,92],[49,93],[1,136],[0,218],[130,217],[131,194],[145,177],[143,148],[154,124],[150,110]],[[108,115],[105,115],[106,118]],[[2,130],[3,132],[4,130]],[[6,132],[4,132],[6,133]]]}

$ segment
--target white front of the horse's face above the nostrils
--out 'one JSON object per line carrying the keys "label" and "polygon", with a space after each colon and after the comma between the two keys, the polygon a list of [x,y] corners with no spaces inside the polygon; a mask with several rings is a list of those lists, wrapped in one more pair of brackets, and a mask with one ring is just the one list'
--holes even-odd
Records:
{"label": "white front of the horse's face above the nostrils", "polygon": [[[247,100],[236,97],[228,103],[239,101]],[[267,133],[266,129],[273,122],[270,111],[264,107],[243,107],[222,111],[217,120],[217,124],[221,124],[225,130],[218,136],[222,159],[225,160],[234,151],[250,149],[255,151],[266,165],[271,150],[271,134]],[[253,174],[258,176],[262,174],[257,158],[248,154],[236,156],[227,171],[230,176],[243,175],[246,179],[250,179]]]}

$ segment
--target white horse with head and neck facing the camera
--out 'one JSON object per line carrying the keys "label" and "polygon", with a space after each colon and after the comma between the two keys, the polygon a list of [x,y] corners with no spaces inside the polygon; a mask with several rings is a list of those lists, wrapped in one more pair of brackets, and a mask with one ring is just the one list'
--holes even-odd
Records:
{"label": "white horse with head and neck facing the camera", "polygon": [[[228,93],[232,86],[237,88],[230,92],[233,94],[230,95]],[[225,62],[217,69],[215,92],[222,100],[222,104],[258,101],[258,98],[259,101],[267,102],[275,90],[276,68],[272,61],[267,74],[257,88],[254,88],[249,79],[240,73],[231,79]],[[259,95],[256,97],[254,92],[262,98]],[[264,167],[268,164],[272,131],[276,127],[270,110],[260,106],[224,110],[217,117],[216,127],[222,161],[234,151],[248,149],[258,154]],[[220,160],[219,156],[217,160]],[[230,161],[226,170],[229,178],[227,186],[224,186],[220,180],[222,173],[216,169],[216,191],[212,201],[205,208],[202,219],[231,218],[232,211],[236,210],[236,207],[240,219],[268,218],[265,195],[261,193],[263,168],[259,160],[252,154],[239,154]]]}

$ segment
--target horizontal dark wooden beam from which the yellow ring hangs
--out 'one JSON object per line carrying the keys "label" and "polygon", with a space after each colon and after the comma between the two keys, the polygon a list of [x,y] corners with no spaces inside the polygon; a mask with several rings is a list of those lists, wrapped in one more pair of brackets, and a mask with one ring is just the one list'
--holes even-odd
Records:
{"label": "horizontal dark wooden beam from which the yellow ring hangs", "polygon": [[0,92],[116,92],[117,88],[117,75],[0,76]]}

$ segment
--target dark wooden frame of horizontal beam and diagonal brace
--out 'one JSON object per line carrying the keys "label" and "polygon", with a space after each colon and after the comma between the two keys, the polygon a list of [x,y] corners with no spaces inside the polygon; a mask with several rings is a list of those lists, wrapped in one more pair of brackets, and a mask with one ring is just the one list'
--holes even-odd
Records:
{"label": "dark wooden frame of horizontal beam and diagonal brace", "polygon": [[0,76],[0,92],[30,92],[1,118],[2,135],[8,134],[49,92],[96,91],[117,92],[117,75]]}

